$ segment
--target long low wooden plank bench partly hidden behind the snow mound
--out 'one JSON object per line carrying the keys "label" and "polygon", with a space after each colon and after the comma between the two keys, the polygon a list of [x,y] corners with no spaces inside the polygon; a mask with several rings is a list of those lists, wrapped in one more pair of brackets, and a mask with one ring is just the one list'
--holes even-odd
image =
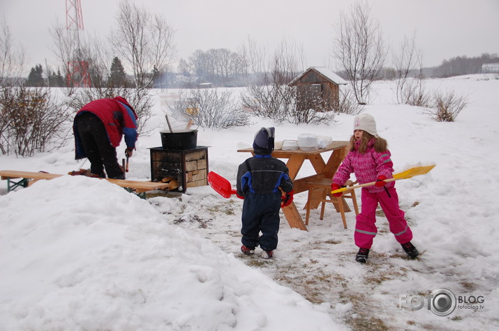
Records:
{"label": "long low wooden plank bench partly hidden behind the snow mound", "polygon": [[[61,176],[61,174],[48,174],[46,172],[31,172],[31,171],[15,171],[15,170],[0,170],[2,180],[7,180],[7,192],[14,190],[17,187],[29,187],[40,179],[54,179]],[[13,178],[22,178],[15,181]],[[102,178],[100,178],[102,179]],[[106,179],[108,182],[124,187],[128,192],[137,194],[142,199],[145,199],[145,192],[152,190],[174,190],[178,187],[177,180],[171,180],[170,183],[154,183],[142,182],[138,180],[126,179]]]}

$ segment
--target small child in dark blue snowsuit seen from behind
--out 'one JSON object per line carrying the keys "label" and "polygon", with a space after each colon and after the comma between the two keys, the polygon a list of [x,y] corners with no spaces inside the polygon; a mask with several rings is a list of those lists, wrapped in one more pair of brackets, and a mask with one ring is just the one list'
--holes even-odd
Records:
{"label": "small child in dark blue snowsuit seen from behind", "polygon": [[244,199],[241,251],[252,255],[260,245],[265,259],[271,258],[277,247],[281,204],[289,206],[293,199],[288,167],[271,156],[274,132],[274,128],[261,128],[255,134],[255,155],[240,164],[237,171],[237,196]]}

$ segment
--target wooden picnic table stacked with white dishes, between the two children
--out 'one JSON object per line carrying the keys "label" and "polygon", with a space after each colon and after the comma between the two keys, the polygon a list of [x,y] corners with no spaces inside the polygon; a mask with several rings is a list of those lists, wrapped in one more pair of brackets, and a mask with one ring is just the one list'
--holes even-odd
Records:
{"label": "wooden picnic table stacked with white dishes, between the two children", "polygon": [[[320,148],[315,151],[301,151],[300,149],[296,151],[274,150],[271,155],[278,159],[288,160],[286,162],[286,166],[290,171],[290,178],[293,180],[293,189],[295,190],[295,194],[298,194],[308,191],[308,187],[306,185],[308,182],[322,178],[332,178],[341,164],[341,161],[343,161],[343,158],[348,152],[347,146],[348,141],[332,141],[332,143],[325,148]],[[237,151],[255,155],[253,148],[243,148]],[[322,153],[331,151],[332,153],[329,156],[329,159],[325,161],[322,157]],[[315,174],[296,179],[305,160],[309,160],[311,162],[313,169],[315,170]],[[311,208],[318,208],[319,203],[317,202],[316,205],[317,206],[311,206]],[[344,203],[344,206],[348,208],[346,203]],[[346,211],[350,211],[350,209],[348,208]],[[295,206],[295,202],[292,202],[290,206],[283,207],[283,213],[292,228],[308,231],[297,207]]]}

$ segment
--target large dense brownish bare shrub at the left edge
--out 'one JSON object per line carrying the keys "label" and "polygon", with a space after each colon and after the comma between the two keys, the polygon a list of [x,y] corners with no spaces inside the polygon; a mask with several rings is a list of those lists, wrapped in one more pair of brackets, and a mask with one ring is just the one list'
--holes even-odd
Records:
{"label": "large dense brownish bare shrub at the left edge", "polygon": [[0,150],[31,156],[68,141],[69,111],[44,88],[0,89]]}

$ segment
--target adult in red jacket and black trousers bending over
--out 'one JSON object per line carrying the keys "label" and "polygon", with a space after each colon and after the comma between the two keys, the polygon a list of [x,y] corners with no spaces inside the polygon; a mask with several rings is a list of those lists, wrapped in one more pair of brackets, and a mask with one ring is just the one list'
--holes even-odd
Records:
{"label": "adult in red jacket and black trousers bending over", "polygon": [[[76,160],[87,157],[90,171],[100,178],[125,179],[116,148],[125,136],[128,157],[137,141],[137,114],[125,98],[94,100],[80,109],[73,122]],[[105,172],[104,172],[105,168]]]}

